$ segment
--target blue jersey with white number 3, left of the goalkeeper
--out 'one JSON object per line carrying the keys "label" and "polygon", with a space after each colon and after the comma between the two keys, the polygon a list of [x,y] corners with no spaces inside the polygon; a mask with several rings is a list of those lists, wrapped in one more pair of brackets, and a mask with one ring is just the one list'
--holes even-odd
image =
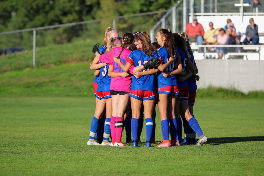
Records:
{"label": "blue jersey with white number 3, left of the goalkeeper", "polygon": [[111,77],[108,76],[108,67],[109,64],[100,68],[99,84],[97,87],[97,91],[110,92]]}

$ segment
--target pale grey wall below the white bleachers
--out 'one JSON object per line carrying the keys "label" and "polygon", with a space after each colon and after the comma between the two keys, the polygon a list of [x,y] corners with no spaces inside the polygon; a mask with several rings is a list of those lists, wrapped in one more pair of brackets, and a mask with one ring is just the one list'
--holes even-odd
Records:
{"label": "pale grey wall below the white bleachers", "polygon": [[236,88],[242,92],[264,90],[263,60],[196,60],[198,88]]}

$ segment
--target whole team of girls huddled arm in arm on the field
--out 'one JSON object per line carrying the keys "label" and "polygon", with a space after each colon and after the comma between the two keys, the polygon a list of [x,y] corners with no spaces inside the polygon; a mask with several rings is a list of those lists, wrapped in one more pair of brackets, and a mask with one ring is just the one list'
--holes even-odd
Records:
{"label": "whole team of girls huddled arm in arm on the field", "polygon": [[[126,146],[121,141],[125,122],[126,126],[131,124],[131,128],[126,127],[126,134],[132,133],[132,146],[137,147],[138,134],[142,130],[139,119],[144,108],[145,146],[150,147],[155,142],[156,104],[163,136],[163,141],[156,147],[195,144],[196,133],[199,136],[197,145],[208,141],[192,112],[197,88],[195,80],[199,80],[199,76],[196,75],[198,69],[187,34],[160,29],[156,40],[157,43],[152,44],[148,33],[139,31],[125,33],[119,39],[118,32],[108,28],[104,45],[101,48],[98,48],[99,44],[94,45],[95,57],[90,68],[99,69],[95,72],[95,75],[99,72],[99,76],[94,81],[96,109],[87,145],[100,145],[96,135],[99,119],[105,116],[101,145]],[[130,138],[127,136],[127,139]]]}

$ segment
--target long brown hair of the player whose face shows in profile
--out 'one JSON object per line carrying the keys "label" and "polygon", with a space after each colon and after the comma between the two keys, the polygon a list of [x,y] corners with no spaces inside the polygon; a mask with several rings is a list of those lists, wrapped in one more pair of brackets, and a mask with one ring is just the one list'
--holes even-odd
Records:
{"label": "long brown hair of the player whose face shows in profile", "polygon": [[164,47],[168,51],[169,55],[173,57],[173,52],[175,51],[174,47],[174,39],[171,30],[168,29],[160,29],[158,32],[160,32],[162,37],[165,37],[166,40],[164,41]]}

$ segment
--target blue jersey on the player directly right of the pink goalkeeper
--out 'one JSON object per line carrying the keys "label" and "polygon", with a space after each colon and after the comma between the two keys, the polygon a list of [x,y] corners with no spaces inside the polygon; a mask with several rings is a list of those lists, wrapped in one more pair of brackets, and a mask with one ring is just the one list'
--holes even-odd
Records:
{"label": "blue jersey on the player directly right of the pink goalkeeper", "polygon": [[[143,52],[143,50],[131,51],[130,55],[128,56],[128,62],[137,67],[148,62],[151,57],[159,58],[159,55],[155,51],[153,51],[152,54],[152,56],[148,56]],[[141,72],[145,72],[146,70],[147,69],[142,70]],[[140,78],[136,78],[133,75],[131,83],[131,91],[132,90],[155,91],[155,74],[144,75]]]}

